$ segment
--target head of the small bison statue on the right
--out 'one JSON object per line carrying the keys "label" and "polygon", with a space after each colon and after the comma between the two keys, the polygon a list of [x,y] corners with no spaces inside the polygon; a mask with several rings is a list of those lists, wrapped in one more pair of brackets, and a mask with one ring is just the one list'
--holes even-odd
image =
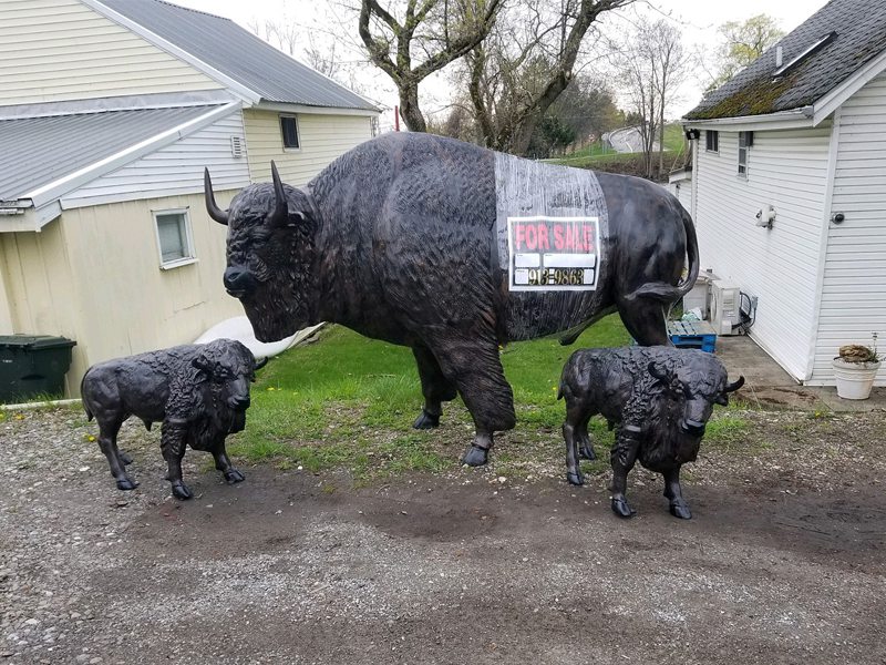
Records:
{"label": "head of the small bison statue on the right", "polygon": [[676,369],[650,362],[648,370],[664,391],[682,405],[680,431],[698,439],[704,434],[713,405],[728,405],[729,393],[744,385],[744,377],[730,383],[723,366],[709,354]]}

